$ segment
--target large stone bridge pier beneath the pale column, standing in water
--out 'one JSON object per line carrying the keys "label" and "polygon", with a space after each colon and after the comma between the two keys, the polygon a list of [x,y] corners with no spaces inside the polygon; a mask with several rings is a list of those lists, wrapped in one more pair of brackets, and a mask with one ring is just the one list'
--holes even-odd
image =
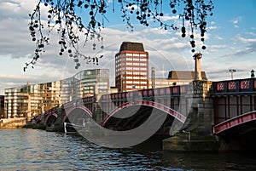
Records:
{"label": "large stone bridge pier beneath the pale column, standing in water", "polygon": [[213,103],[210,98],[212,82],[197,80],[189,84],[187,120],[173,137],[163,141],[166,151],[217,151],[218,140],[212,134]]}

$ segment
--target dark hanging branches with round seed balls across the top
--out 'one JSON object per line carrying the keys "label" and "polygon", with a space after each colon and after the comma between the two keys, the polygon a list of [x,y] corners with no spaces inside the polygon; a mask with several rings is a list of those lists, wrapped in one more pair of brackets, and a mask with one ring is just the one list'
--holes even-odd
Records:
{"label": "dark hanging branches with round seed balls across the top", "polygon": [[[90,39],[102,42],[103,37],[99,30],[104,27],[104,20],[108,20],[107,13],[114,13],[117,7],[122,13],[120,17],[131,28],[131,17],[134,17],[143,26],[149,26],[149,20],[154,20],[163,29],[180,30],[182,37],[189,37],[191,51],[194,53],[195,30],[199,30],[201,42],[204,42],[207,16],[212,15],[213,9],[212,0],[113,0],[111,4],[107,0],[38,0],[36,8],[29,14],[29,31],[32,41],[36,43],[35,55],[31,62],[26,63],[24,71],[28,66],[35,65],[44,53],[52,31],[56,31],[60,37],[57,40],[60,45],[59,54],[67,51],[69,56],[73,57],[76,68],[79,68],[81,59],[97,65],[102,56],[90,57],[81,54],[78,44],[81,40],[87,42]],[[42,6],[48,7],[47,25],[42,22]],[[165,15],[162,12],[163,6],[170,7],[172,14],[178,14],[183,20],[183,26],[178,27],[174,23],[167,24],[161,20]],[[82,16],[87,16],[87,22]],[[185,26],[185,23],[189,23],[189,26]],[[92,46],[96,49],[96,43]],[[104,48],[103,45],[100,48]],[[205,49],[206,46],[201,48]]]}

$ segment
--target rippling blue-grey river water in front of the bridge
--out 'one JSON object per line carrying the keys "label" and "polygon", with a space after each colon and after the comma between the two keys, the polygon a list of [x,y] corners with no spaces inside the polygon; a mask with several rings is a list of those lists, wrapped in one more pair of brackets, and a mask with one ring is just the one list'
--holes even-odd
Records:
{"label": "rippling blue-grey river water in front of the bridge", "polygon": [[256,170],[256,155],[108,149],[77,134],[0,129],[0,170]]}

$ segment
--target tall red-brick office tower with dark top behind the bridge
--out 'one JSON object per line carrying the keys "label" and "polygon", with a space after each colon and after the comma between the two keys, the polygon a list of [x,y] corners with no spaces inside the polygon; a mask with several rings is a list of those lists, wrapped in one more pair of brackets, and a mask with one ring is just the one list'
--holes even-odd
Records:
{"label": "tall red-brick office tower with dark top behind the bridge", "polygon": [[121,44],[115,54],[115,86],[119,92],[148,88],[148,52],[143,43]]}

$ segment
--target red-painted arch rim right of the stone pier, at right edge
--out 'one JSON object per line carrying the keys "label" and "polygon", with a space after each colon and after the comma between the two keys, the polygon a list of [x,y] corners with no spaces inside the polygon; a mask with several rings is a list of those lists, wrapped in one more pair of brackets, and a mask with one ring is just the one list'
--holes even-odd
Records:
{"label": "red-painted arch rim right of the stone pier, at right edge", "polygon": [[223,123],[218,123],[213,127],[213,134],[220,134],[229,128],[236,127],[242,123],[256,120],[256,111],[250,111],[237,117],[233,117]]}

